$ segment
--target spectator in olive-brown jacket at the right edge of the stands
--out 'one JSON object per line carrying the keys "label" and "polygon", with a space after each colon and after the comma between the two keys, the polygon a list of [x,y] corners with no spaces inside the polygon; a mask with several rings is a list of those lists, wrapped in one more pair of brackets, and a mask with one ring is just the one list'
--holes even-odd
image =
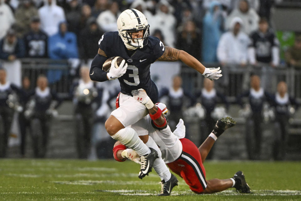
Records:
{"label": "spectator in olive-brown jacket at the right edge of the stands", "polygon": [[296,36],[294,46],[285,52],[285,61],[293,67],[301,68],[301,35]]}

